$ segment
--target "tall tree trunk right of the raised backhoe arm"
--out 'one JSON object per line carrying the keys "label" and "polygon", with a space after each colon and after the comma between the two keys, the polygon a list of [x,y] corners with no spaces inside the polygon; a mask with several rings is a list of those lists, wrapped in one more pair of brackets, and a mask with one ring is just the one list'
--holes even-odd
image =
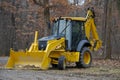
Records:
{"label": "tall tree trunk right of the raised backhoe arm", "polygon": [[111,58],[111,50],[112,50],[112,46],[111,46],[111,20],[112,20],[112,0],[106,0],[106,31],[105,31],[105,51],[106,51],[106,59],[110,59]]}

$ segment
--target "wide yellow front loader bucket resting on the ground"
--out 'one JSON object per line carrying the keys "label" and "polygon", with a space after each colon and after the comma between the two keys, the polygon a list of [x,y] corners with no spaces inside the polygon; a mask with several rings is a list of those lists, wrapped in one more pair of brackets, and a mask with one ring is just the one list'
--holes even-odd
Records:
{"label": "wide yellow front loader bucket resting on the ground", "polygon": [[44,59],[44,51],[15,52],[10,51],[10,57],[6,64],[7,69],[48,69],[50,59]]}

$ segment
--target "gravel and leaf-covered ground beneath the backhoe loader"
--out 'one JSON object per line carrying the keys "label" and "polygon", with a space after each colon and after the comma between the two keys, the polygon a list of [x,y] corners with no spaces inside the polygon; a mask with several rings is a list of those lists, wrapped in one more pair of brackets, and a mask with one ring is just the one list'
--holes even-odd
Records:
{"label": "gravel and leaf-covered ground beneath the backhoe loader", "polygon": [[0,80],[120,80],[120,60],[93,60],[90,68],[66,70],[6,70],[7,57],[0,57]]}

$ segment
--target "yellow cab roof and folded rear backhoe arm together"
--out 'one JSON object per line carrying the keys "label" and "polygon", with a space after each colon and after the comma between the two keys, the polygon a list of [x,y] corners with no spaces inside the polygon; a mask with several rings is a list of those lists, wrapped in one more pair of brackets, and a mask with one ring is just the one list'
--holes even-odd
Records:
{"label": "yellow cab roof and folded rear backhoe arm together", "polygon": [[[92,45],[90,49],[97,51],[98,49],[101,48],[102,41],[98,36],[93,16],[94,16],[93,12],[91,10],[88,10],[86,17],[61,17],[61,18],[68,19],[68,20],[85,21],[85,34]],[[55,19],[58,19],[58,18],[55,18]],[[90,39],[91,32],[92,32],[92,39]],[[97,41],[96,46],[94,46],[96,41]]]}

